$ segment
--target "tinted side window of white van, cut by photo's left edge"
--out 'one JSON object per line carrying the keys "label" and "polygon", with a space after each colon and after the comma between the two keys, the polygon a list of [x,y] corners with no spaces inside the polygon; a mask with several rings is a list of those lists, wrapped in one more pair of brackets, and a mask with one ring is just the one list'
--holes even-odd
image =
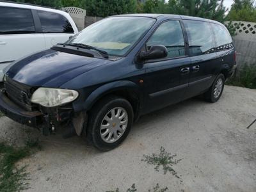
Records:
{"label": "tinted side window of white van, cut by photo's left edge", "polygon": [[0,7],[0,35],[35,33],[31,10]]}

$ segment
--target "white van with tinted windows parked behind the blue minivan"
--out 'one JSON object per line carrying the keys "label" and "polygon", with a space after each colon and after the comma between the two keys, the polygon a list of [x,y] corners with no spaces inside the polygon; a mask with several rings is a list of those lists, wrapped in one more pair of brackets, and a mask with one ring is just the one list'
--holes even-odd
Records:
{"label": "white van with tinted windows parked behind the blue minivan", "polygon": [[66,42],[77,32],[76,24],[66,12],[0,2],[0,81],[3,68],[12,61]]}

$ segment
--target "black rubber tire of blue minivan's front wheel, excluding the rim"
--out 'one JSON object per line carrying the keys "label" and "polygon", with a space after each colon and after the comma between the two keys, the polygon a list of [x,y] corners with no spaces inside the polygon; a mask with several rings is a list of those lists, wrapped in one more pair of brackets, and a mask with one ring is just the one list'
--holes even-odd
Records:
{"label": "black rubber tire of blue minivan's front wheel, excluding the rim", "polygon": [[[102,123],[102,120],[103,120],[104,116],[111,109],[117,108],[117,107],[124,108],[127,111],[128,124],[127,124],[125,132],[121,136],[121,138],[119,138],[114,143],[107,143],[104,140],[102,140],[102,138],[100,136],[100,125]],[[92,122],[91,126],[92,127],[88,127],[88,128],[92,129],[89,134],[92,134],[92,141],[93,141],[93,144],[95,145],[95,147],[99,148],[100,150],[104,150],[104,151],[111,150],[111,149],[117,147],[118,145],[120,145],[125,140],[125,138],[127,138],[128,134],[131,130],[132,123],[133,123],[132,106],[127,100],[122,99],[122,98],[117,98],[117,99],[110,100],[109,102],[106,102],[105,104],[103,104],[101,106],[101,109],[98,109],[98,110],[94,111],[93,113],[95,113],[93,115],[93,116],[95,116],[95,119],[91,120],[91,122]]]}

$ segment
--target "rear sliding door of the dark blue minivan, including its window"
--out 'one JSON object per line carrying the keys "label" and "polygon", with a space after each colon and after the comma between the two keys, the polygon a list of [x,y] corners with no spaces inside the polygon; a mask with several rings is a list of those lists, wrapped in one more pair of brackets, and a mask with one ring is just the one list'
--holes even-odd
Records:
{"label": "rear sliding door of the dark blue minivan, including its window", "polygon": [[183,20],[189,42],[191,59],[189,86],[185,99],[207,90],[214,81],[214,74],[220,68],[215,52],[211,24],[198,20]]}

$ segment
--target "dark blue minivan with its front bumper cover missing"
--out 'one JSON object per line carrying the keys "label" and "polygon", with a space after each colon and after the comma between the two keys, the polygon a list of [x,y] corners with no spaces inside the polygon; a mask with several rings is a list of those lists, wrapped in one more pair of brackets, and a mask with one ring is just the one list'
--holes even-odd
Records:
{"label": "dark blue minivan with its front bumper cover missing", "polygon": [[117,15],[15,61],[0,109],[45,135],[59,129],[65,138],[83,135],[111,150],[140,115],[196,95],[216,102],[234,68],[234,44],[219,22]]}

